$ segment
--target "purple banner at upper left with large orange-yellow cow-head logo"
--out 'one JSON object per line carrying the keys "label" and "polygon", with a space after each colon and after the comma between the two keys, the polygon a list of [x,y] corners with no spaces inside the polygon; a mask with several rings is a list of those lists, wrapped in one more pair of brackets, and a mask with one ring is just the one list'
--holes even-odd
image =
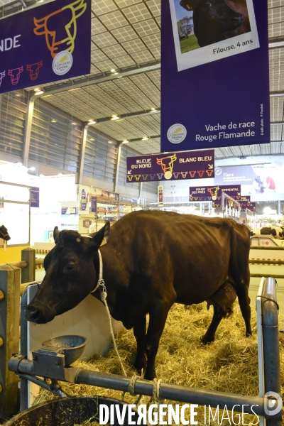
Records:
{"label": "purple banner at upper left with large orange-yellow cow-head logo", "polygon": [[89,74],[91,0],[57,0],[0,20],[0,93]]}

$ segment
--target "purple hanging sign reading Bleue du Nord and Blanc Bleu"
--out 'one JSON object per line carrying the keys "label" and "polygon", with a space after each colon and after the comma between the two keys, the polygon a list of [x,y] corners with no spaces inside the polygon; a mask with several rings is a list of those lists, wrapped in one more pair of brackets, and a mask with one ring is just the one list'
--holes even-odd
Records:
{"label": "purple hanging sign reading Bleue du Nord and Blanc Bleu", "polygon": [[126,182],[214,178],[214,150],[127,157]]}

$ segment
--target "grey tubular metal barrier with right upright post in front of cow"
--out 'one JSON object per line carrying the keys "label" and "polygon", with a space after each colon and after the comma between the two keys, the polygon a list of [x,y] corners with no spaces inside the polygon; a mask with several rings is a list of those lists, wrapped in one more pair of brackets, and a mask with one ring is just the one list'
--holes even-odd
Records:
{"label": "grey tubular metal barrier with right upright post in front of cow", "polygon": [[[277,313],[278,305],[275,295],[275,280],[273,278],[268,278],[268,280],[265,282],[262,280],[262,283],[263,291],[261,295],[258,296],[261,300],[262,309],[262,332],[260,333],[261,340],[258,346],[258,351],[261,352],[261,359],[263,359],[263,365],[261,363],[259,364],[261,368],[261,381],[263,381],[263,395],[260,397],[239,394],[236,395],[232,393],[207,391],[205,389],[160,383],[160,398],[175,400],[182,403],[211,405],[215,408],[217,408],[218,405],[226,405],[228,410],[231,410],[235,407],[235,411],[238,411],[236,405],[239,405],[240,407],[242,405],[254,405],[253,411],[257,415],[266,418],[266,425],[282,425],[281,409],[276,410],[276,413],[275,410],[273,410],[273,406],[270,405],[269,400],[270,394],[273,395],[273,398],[276,399],[278,396],[280,396],[280,362]],[[21,337],[26,339],[25,333],[23,333]],[[111,388],[118,391],[129,391],[129,385],[131,382],[131,378],[129,377],[108,373],[99,373],[96,371],[87,371],[83,368],[75,368],[72,366],[65,368],[65,361],[62,359],[62,356],[64,357],[64,355],[60,355],[60,361],[62,362],[55,363],[55,359],[53,359],[53,356],[55,356],[54,353],[48,354],[48,357],[45,357],[44,364],[40,364],[38,357],[34,353],[34,361],[26,359],[26,347],[24,342],[23,347],[21,346],[21,350],[23,351],[23,354],[16,354],[11,357],[9,361],[9,369],[22,376],[23,381],[31,380],[34,383],[35,381],[40,383],[40,379],[35,376],[44,376],[55,380],[67,381],[70,383],[89,384],[102,388]],[[262,371],[264,371],[263,375]],[[48,388],[48,384],[43,381],[41,381],[40,386]],[[154,383],[152,381],[138,378],[133,391],[137,394],[150,396],[153,395],[153,386]],[[56,392],[58,395],[60,395],[60,390],[57,390]],[[279,402],[278,408],[280,404],[282,407],[282,400],[281,403]],[[23,399],[23,405],[21,404],[22,410],[26,408],[24,405],[26,405],[25,399]],[[262,424],[264,424],[263,419]]]}

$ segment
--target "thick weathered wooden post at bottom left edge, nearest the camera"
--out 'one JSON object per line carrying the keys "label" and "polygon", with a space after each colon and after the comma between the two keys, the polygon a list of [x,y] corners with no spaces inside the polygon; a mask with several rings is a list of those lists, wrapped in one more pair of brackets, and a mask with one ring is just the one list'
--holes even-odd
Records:
{"label": "thick weathered wooden post at bottom left edge, nearest the camera", "polygon": [[0,266],[0,418],[19,408],[18,378],[8,370],[8,361],[18,352],[21,269]]}

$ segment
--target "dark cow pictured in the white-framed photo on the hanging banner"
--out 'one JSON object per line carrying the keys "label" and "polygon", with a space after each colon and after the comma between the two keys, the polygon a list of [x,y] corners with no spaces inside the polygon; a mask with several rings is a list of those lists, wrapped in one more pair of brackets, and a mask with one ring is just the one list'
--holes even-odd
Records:
{"label": "dark cow pictured in the white-framed photo on the hanging banner", "polygon": [[229,38],[243,23],[241,13],[233,11],[226,0],[181,0],[180,6],[193,11],[193,26],[200,47]]}

